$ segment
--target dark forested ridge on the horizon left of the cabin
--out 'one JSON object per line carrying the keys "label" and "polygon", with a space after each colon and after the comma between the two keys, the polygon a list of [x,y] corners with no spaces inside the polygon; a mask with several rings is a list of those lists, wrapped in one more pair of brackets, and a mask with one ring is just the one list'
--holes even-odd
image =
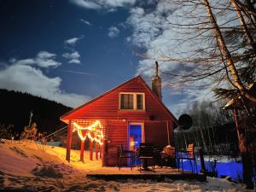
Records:
{"label": "dark forested ridge on the horizon left of the cabin", "polygon": [[32,96],[14,90],[0,89],[0,124],[12,124],[17,132],[28,125],[30,112],[32,122],[38,125],[38,131],[53,132],[65,126],[60,116],[72,108],[39,96]]}

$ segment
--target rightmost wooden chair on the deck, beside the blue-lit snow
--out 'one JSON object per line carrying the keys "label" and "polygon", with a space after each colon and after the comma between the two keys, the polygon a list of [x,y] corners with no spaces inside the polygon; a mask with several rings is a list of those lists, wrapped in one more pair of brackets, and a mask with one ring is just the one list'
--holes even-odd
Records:
{"label": "rightmost wooden chair on the deck, beside the blue-lit snow", "polygon": [[[189,160],[192,172],[194,172],[194,171],[195,171],[195,173],[198,172],[197,164],[196,164],[196,158],[195,158],[195,146],[194,146],[193,143],[189,144],[187,150],[185,150],[185,151],[180,150],[180,151],[177,152],[177,168],[178,168],[178,172],[179,172],[180,160],[182,161],[182,169],[183,169],[183,160]],[[193,168],[192,160],[195,161],[195,170]],[[183,172],[184,172],[184,169],[183,169]]]}

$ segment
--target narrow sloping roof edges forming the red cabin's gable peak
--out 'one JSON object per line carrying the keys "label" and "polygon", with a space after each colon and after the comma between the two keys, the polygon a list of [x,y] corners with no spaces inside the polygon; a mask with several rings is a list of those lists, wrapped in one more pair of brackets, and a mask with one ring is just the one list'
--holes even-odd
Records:
{"label": "narrow sloping roof edges forming the red cabin's gable peak", "polygon": [[114,87],[112,90],[108,90],[107,92],[103,93],[101,96],[97,96],[96,98],[90,100],[89,102],[86,102],[86,103],[84,103],[83,105],[79,106],[78,108],[74,108],[73,110],[71,110],[71,111],[69,111],[69,112],[63,114],[63,115],[60,117],[60,119],[61,119],[62,121],[64,121],[64,119],[68,119],[68,116],[71,115],[72,113],[75,113],[75,112],[78,111],[79,109],[84,108],[85,106],[89,105],[89,104],[92,103],[92,102],[96,102],[98,99],[102,98],[103,96],[107,96],[108,94],[112,93],[114,90],[118,90],[120,87],[124,86],[125,84],[129,84],[131,81],[133,81],[133,80],[135,80],[135,79],[141,81],[141,83],[144,85],[144,87],[146,88],[146,90],[148,90],[148,93],[150,93],[151,96],[154,97],[155,101],[158,102],[158,103],[160,104],[160,106],[161,106],[164,110],[166,110],[166,112],[170,115],[170,117],[173,119],[173,121],[177,124],[177,119],[175,118],[175,116],[169,111],[168,108],[166,108],[165,104],[160,101],[159,97],[154,94],[153,90],[151,90],[151,89],[149,88],[148,84],[143,80],[143,78],[142,78],[140,75],[138,75],[138,76],[135,77],[135,78],[132,78],[132,79],[129,79],[129,80],[125,81],[123,84],[119,84],[118,86]]}

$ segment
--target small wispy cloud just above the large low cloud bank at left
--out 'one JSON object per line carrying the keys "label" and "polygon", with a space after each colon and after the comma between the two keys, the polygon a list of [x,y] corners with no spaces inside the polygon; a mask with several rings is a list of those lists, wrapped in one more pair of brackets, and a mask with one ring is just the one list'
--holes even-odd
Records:
{"label": "small wispy cloud just above the large low cloud bank at left", "polygon": [[29,58],[24,60],[16,61],[12,58],[10,61],[14,65],[34,65],[38,67],[58,67],[61,65],[60,62],[55,61],[55,54],[49,53],[47,51],[40,51],[35,58]]}

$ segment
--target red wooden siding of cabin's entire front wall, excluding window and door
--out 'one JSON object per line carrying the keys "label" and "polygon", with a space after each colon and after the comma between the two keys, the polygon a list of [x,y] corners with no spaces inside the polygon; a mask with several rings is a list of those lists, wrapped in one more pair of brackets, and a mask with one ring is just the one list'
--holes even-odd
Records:
{"label": "red wooden siding of cabin's entire front wall, excluding window and door", "polygon": [[[119,110],[119,93],[137,92],[145,94],[145,111]],[[61,116],[61,120],[101,119],[107,121],[107,143],[104,148],[103,165],[117,165],[117,148],[120,143],[128,148],[128,123],[144,124],[145,142],[163,148],[173,141],[173,126],[177,119],[154,95],[140,76],[120,84],[102,96],[98,96],[79,108]],[[168,122],[168,123],[167,123]],[[167,125],[169,125],[167,133]]]}

